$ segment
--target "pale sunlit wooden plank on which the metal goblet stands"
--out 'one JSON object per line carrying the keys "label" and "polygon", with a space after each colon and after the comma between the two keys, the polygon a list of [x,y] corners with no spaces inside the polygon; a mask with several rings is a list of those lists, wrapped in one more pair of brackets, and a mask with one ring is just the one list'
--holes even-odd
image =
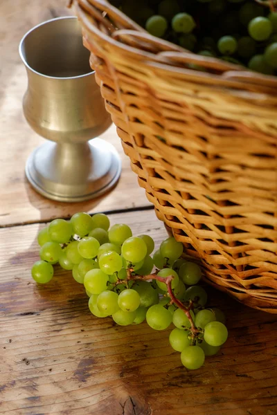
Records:
{"label": "pale sunlit wooden plank on which the metal goblet stands", "polygon": [[123,154],[115,127],[102,135],[111,142],[123,161],[120,183],[114,192],[98,201],[87,203],[57,203],[45,199],[33,190],[24,176],[26,160],[44,139],[28,126],[21,102],[27,87],[24,64],[18,53],[21,37],[41,21],[67,15],[66,0],[8,0],[0,2],[0,226],[15,223],[47,221],[53,216],[66,216],[80,210],[88,212],[150,205],[145,192],[137,184],[136,175]]}

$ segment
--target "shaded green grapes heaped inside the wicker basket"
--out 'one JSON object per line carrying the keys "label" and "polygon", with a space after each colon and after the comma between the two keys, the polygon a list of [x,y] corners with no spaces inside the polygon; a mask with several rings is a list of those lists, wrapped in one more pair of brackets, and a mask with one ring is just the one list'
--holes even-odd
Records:
{"label": "shaded green grapes heaped inside the wicker basket", "polygon": [[[270,1],[270,0],[269,0]],[[274,4],[272,1],[272,5]],[[151,35],[277,75],[277,11],[256,0],[109,0]],[[203,66],[190,64],[204,71]]]}

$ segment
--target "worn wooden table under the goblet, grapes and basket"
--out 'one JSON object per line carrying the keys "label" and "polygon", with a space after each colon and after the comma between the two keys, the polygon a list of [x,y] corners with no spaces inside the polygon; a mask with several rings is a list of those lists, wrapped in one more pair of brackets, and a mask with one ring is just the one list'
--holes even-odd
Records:
{"label": "worn wooden table under the goblet, grapes and basket", "polygon": [[0,3],[0,414],[38,415],[275,415],[276,317],[246,308],[209,289],[228,317],[229,340],[197,371],[181,366],[169,331],[116,326],[93,317],[70,273],[37,286],[30,267],[37,232],[54,217],[111,212],[111,223],[166,232],[139,188],[114,127],[104,138],[123,158],[123,174],[105,199],[64,204],[39,196],[24,178],[30,151],[43,142],[26,124],[21,99],[26,73],[17,47],[26,30],[69,13],[65,0]]}

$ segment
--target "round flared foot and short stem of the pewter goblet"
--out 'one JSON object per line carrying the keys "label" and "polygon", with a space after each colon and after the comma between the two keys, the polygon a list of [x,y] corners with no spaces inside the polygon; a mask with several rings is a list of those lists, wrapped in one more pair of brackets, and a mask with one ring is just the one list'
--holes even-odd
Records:
{"label": "round flared foot and short stem of the pewter goblet", "polygon": [[30,154],[25,172],[46,198],[78,202],[111,190],[120,177],[121,161],[114,146],[100,138],[78,144],[48,141]]}

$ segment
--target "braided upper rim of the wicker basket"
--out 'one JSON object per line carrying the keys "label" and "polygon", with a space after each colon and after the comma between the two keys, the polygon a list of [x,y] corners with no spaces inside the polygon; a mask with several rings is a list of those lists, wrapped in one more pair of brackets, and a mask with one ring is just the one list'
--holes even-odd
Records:
{"label": "braided upper rim of the wicker basket", "polygon": [[[255,73],[238,64],[224,62],[217,57],[197,55],[172,42],[150,35],[150,33],[116,7],[112,6],[107,0],[70,0],[69,6],[72,4],[75,6],[77,15],[82,20],[82,24],[88,32],[92,31],[94,34],[97,33],[97,35],[100,35],[109,44],[120,48],[123,53],[135,53],[136,56],[139,55],[144,59],[148,58],[157,63],[166,64],[168,68],[179,67],[179,69],[184,69],[185,73],[187,69],[184,64],[190,60],[193,64],[204,66],[206,69],[213,68],[222,71],[220,75],[206,72],[206,77],[212,78],[211,75],[215,75],[217,79],[222,77],[225,81],[240,82],[241,86],[249,84],[256,86],[257,91],[263,91],[269,95],[276,95],[277,76]],[[106,18],[107,13],[109,13],[111,19],[119,22],[117,26],[108,23],[109,21]],[[96,27],[93,24],[96,21],[98,24],[105,26],[105,28],[109,27],[109,33],[107,31],[105,33],[104,30]],[[144,50],[146,45],[148,46],[148,50]],[[201,71],[196,71],[195,69],[190,69],[190,72],[197,73],[197,75],[201,73]]]}

